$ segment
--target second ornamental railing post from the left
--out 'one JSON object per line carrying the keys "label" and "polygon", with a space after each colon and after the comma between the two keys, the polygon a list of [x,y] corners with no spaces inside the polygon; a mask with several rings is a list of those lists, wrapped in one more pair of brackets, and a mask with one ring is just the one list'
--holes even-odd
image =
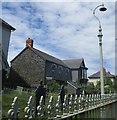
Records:
{"label": "second ornamental railing post from the left", "polygon": [[33,108],[33,100],[32,96],[29,97],[29,100],[27,102],[27,106],[24,109],[24,112],[26,112],[25,118],[32,119],[34,116],[34,108]]}

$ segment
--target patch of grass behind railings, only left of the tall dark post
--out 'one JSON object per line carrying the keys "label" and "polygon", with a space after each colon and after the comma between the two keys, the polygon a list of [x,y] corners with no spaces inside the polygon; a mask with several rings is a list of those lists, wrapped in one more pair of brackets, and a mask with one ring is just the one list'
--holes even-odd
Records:
{"label": "patch of grass behind railings, only left of the tall dark post", "polygon": [[24,116],[24,107],[26,107],[27,101],[30,96],[34,96],[34,93],[22,92],[19,93],[16,90],[4,90],[2,94],[2,116],[3,118],[7,117],[7,112],[11,108],[11,103],[15,96],[18,97],[19,107],[20,107],[20,116]]}

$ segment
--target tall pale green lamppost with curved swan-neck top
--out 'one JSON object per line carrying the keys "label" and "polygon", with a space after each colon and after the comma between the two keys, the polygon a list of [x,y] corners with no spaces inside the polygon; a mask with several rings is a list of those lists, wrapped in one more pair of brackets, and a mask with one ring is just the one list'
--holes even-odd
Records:
{"label": "tall pale green lamppost with curved swan-neck top", "polygon": [[99,33],[98,33],[98,38],[99,38],[99,50],[100,50],[100,81],[101,81],[101,96],[104,95],[104,77],[103,77],[103,55],[102,55],[102,28],[101,28],[101,22],[99,18],[95,15],[95,11],[100,8],[100,11],[106,11],[107,9],[104,7],[104,4],[98,5],[94,10],[93,10],[93,15],[94,17],[98,20],[99,22]]}

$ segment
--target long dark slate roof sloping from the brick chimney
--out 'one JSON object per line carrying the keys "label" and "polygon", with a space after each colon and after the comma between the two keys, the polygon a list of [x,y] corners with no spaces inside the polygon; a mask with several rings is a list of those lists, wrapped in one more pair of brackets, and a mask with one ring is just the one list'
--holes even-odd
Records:
{"label": "long dark slate roof sloping from the brick chimney", "polygon": [[29,46],[25,47],[11,62],[13,62],[19,55],[21,55],[28,48],[32,50],[36,55],[39,55],[41,58],[43,58],[46,61],[50,61],[68,67],[62,60]]}

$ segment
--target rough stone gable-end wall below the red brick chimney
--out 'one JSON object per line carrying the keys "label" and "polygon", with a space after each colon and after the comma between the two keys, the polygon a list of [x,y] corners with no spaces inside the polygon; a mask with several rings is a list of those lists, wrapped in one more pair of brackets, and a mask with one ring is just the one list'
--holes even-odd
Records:
{"label": "rough stone gable-end wall below the red brick chimney", "polygon": [[27,48],[12,61],[9,78],[14,85],[36,87],[44,74],[45,61]]}

